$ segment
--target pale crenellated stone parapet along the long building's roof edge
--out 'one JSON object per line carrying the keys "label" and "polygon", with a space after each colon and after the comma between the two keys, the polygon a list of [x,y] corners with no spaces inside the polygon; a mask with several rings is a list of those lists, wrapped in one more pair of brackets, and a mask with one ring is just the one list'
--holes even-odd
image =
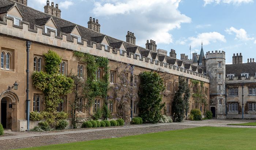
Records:
{"label": "pale crenellated stone parapet along the long building's roof edge", "polygon": [[[117,52],[114,52],[113,48],[110,48],[109,51],[105,51],[105,48],[102,47],[101,45],[100,47],[97,47],[97,43],[95,42],[88,43],[87,40],[82,39],[82,42],[80,43],[78,42],[78,39],[74,36],[71,37],[71,40],[68,40],[66,33],[60,32],[60,36],[56,36],[53,30],[49,30],[48,33],[44,33],[43,28],[38,25],[35,25],[34,30],[32,30],[32,29],[29,29],[29,23],[25,21],[20,21],[20,26],[17,26],[17,25],[14,25],[14,20],[12,18],[6,17],[6,16],[4,16],[4,21],[0,21],[0,24],[3,24],[0,26],[1,33],[10,35],[10,36],[20,37],[26,40],[30,40],[32,42],[49,44],[51,46],[65,48],[67,50],[82,51],[82,52],[90,53],[96,56],[107,57],[110,60],[130,63],[140,67],[149,68],[151,70],[157,70],[157,68],[159,68],[162,64],[162,62],[159,63],[158,60],[157,60],[157,63],[152,64],[150,61],[146,61],[146,57],[143,57],[143,56],[141,57],[142,59],[140,58],[138,59],[139,55],[137,54],[131,53],[131,57],[130,57],[129,54],[125,54],[127,53],[126,51],[123,51],[124,54],[120,54],[119,49],[117,49]],[[223,51],[222,51],[222,54],[223,54]],[[172,67],[172,66],[173,65],[166,63],[164,68],[167,69],[171,74],[180,75],[182,72],[182,70],[180,70],[180,67],[178,66]],[[188,78],[202,80],[207,83],[210,82],[209,77],[198,75],[198,73],[195,73],[195,71],[190,71],[190,72],[184,71],[184,73],[182,72],[182,74]]]}

